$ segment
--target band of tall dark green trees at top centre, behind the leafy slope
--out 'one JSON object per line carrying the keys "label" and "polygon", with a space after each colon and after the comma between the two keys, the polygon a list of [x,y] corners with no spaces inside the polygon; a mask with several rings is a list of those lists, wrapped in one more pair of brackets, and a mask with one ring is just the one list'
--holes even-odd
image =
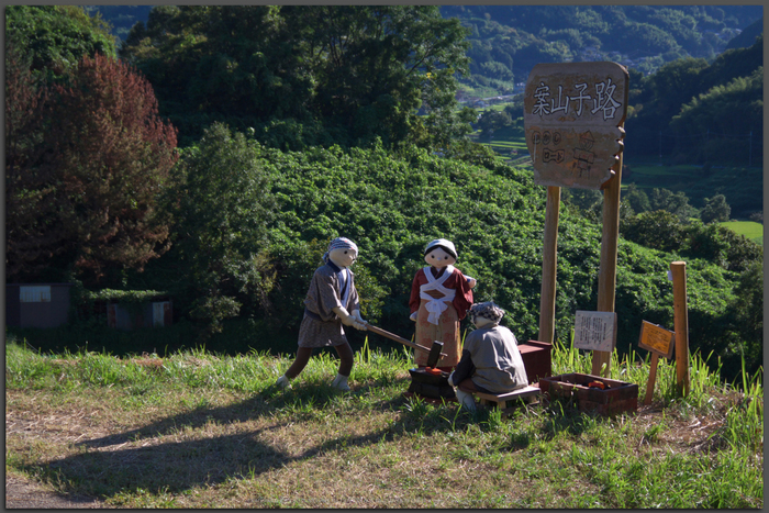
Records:
{"label": "band of tall dark green trees at top centre, behind the leafy slope", "polygon": [[434,146],[469,131],[454,98],[464,37],[436,7],[163,5],[120,55],[153,82],[182,145],[222,121],[281,148]]}

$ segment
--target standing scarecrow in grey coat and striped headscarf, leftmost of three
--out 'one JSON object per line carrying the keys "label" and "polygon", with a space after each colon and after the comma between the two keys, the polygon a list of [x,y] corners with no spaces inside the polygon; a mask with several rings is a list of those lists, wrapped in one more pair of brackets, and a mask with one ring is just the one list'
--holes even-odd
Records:
{"label": "standing scarecrow in grey coat and striped headscarf, leftmost of three", "polygon": [[337,237],[328,245],[328,250],[323,255],[325,264],[315,269],[304,299],[297,359],[278,378],[278,387],[289,387],[289,380],[299,376],[310,361],[313,348],[333,346],[339,356],[339,370],[332,387],[349,390],[347,378],[353,370],[354,359],[344,326],[366,330],[366,321],[360,317],[355,275],[349,270],[357,258],[358,246],[349,238]]}

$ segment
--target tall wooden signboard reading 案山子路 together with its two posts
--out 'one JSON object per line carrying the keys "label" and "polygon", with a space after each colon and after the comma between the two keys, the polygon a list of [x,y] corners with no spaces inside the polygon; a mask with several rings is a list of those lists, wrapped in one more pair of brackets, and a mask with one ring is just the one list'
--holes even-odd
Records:
{"label": "tall wooden signboard reading \u6848\u5c71\u5b50\u8def together with its two posts", "polygon": [[[627,83],[627,69],[616,63],[538,64],[528,74],[523,116],[526,146],[534,182],[548,188],[539,304],[542,342],[553,343],[554,337],[561,187],[606,189],[598,309],[614,311]],[[593,354],[593,368],[597,355],[600,368],[602,352]],[[608,376],[608,360],[603,368]]]}

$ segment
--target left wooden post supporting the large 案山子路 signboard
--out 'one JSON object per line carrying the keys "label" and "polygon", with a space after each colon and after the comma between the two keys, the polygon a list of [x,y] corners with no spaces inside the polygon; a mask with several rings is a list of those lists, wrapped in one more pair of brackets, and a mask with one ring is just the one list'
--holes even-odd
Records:
{"label": "left wooden post supporting the large \u6848\u5c71\u5b50\u8def signboard", "polygon": [[560,187],[547,188],[545,239],[542,248],[542,293],[539,295],[539,342],[553,344],[556,320],[556,268],[558,261],[558,212]]}

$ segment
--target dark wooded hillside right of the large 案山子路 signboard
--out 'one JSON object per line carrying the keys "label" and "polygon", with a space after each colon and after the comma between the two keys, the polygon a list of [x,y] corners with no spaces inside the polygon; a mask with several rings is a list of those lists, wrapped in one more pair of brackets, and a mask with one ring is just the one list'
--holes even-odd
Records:
{"label": "dark wooded hillside right of the large \u6848\u5c71\u5b50\u8def signboard", "polygon": [[687,58],[631,74],[627,155],[677,164],[758,165],[764,140],[764,36],[713,63]]}

